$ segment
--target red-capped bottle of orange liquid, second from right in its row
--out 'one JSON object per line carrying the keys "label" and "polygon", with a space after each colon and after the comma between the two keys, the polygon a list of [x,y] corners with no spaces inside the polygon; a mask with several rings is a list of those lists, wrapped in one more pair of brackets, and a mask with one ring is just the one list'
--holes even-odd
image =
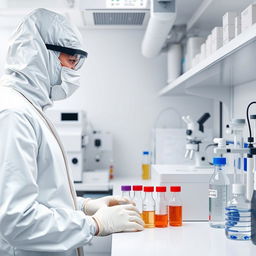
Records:
{"label": "red-capped bottle of orange liquid, second from right in its row", "polygon": [[156,187],[156,211],[155,211],[155,227],[168,227],[168,202],[166,199],[166,187]]}

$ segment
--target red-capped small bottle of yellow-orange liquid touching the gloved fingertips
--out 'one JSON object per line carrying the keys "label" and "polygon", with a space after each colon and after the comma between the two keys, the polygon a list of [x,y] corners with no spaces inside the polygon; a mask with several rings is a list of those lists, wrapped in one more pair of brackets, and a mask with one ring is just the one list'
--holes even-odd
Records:
{"label": "red-capped small bottle of yellow-orange liquid touching the gloved fingertips", "polygon": [[153,198],[154,187],[144,187],[144,199],[142,203],[142,219],[145,222],[145,228],[155,227],[155,200]]}

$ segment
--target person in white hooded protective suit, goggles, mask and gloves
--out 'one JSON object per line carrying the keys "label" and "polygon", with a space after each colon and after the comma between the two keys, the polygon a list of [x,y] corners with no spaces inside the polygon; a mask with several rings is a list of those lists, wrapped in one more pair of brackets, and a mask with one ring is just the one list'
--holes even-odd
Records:
{"label": "person in white hooded protective suit, goggles, mask and gloves", "polygon": [[1,256],[81,256],[94,235],[143,230],[127,199],[76,196],[44,114],[78,88],[77,69],[87,56],[81,49],[79,32],[45,9],[26,16],[11,37],[0,80]]}

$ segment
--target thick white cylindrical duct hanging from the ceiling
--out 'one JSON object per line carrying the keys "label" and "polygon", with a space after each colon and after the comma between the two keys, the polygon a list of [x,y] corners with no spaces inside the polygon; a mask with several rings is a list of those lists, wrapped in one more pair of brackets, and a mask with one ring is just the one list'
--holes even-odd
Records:
{"label": "thick white cylindrical duct hanging from the ceiling", "polygon": [[151,0],[150,18],[142,41],[142,54],[158,55],[176,18],[175,0]]}

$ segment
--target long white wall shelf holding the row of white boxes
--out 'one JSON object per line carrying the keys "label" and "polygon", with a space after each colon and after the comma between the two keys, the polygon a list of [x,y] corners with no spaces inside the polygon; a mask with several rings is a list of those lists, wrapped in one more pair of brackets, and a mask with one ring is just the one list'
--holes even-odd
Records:
{"label": "long white wall shelf holding the row of white boxes", "polygon": [[195,92],[205,96],[204,94],[217,92],[216,97],[222,100],[221,92],[230,90],[231,86],[254,80],[256,80],[256,24],[169,83],[159,95],[173,96]]}

